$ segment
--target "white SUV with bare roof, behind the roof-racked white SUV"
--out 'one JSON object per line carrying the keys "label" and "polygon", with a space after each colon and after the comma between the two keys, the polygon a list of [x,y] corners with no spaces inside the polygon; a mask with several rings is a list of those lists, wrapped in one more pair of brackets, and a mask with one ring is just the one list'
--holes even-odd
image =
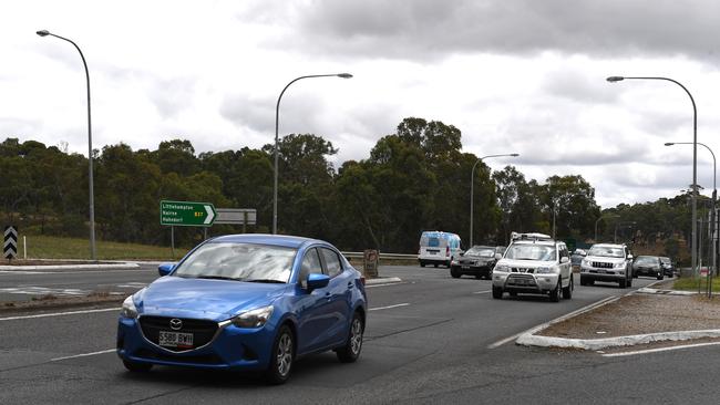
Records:
{"label": "white SUV with bare roof, behind the roof-racked white SUV", "polygon": [[627,246],[593,245],[580,262],[580,285],[595,281],[617,282],[621,289],[632,287],[632,255]]}

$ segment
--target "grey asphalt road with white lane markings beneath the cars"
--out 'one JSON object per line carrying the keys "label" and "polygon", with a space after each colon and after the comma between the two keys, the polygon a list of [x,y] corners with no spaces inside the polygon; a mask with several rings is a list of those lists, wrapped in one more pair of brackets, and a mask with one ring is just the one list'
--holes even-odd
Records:
{"label": "grey asphalt road with white lane markings beneath the cars", "polygon": [[[282,386],[267,386],[253,375],[172,367],[127,373],[113,351],[114,309],[6,316],[0,319],[0,403],[717,403],[720,388],[708,381],[720,372],[717,346],[605,357],[508,340],[628,290],[578,287],[573,300],[559,303],[493,300],[490,281],[452,279],[446,269],[380,271],[403,282],[369,287],[371,311],[358,363],[341,364],[333,353],[309,356]],[[94,282],[148,280],[140,272],[123,274],[127,278],[113,273]],[[641,287],[654,280],[636,281]]]}

